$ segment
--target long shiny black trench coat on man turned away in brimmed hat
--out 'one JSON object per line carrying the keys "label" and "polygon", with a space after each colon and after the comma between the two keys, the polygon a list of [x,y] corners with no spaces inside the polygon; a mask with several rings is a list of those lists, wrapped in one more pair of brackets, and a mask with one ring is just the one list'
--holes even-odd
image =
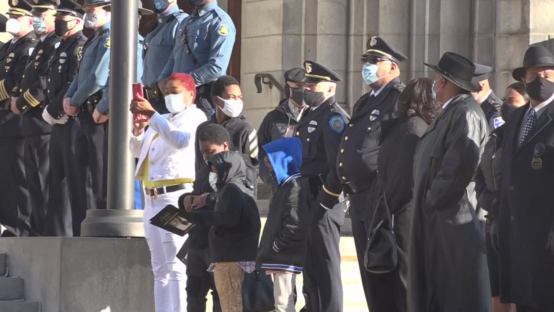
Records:
{"label": "long shiny black trench coat on man turned away in brimmed hat", "polygon": [[488,136],[483,110],[459,94],[423,134],[414,157],[408,311],[488,312],[485,233],[471,182]]}

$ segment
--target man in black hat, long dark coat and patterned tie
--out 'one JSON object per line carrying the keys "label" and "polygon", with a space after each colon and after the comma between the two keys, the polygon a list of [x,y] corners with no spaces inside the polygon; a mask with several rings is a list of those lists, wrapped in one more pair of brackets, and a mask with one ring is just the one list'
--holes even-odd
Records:
{"label": "man in black hat, long dark coat and patterned tie", "polygon": [[554,311],[554,56],[530,47],[512,73],[531,98],[506,123],[499,218],[500,300],[517,312]]}

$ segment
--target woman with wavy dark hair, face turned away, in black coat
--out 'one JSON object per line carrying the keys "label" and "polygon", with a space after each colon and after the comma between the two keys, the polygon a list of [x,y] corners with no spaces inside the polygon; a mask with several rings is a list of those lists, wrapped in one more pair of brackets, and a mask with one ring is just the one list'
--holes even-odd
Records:
{"label": "woman with wavy dark hair, face turned away, in black coat", "polygon": [[[376,274],[383,281],[392,279],[397,285],[387,303],[372,306],[372,312],[404,312],[406,308],[406,275],[409,227],[412,215],[413,155],[419,138],[437,118],[441,104],[432,97],[433,80],[412,80],[400,94],[394,119],[381,122],[381,149],[377,158],[377,183],[371,190],[372,226],[388,222],[392,214],[394,237],[398,250],[398,265],[389,273]],[[371,233],[372,229],[368,229]]]}

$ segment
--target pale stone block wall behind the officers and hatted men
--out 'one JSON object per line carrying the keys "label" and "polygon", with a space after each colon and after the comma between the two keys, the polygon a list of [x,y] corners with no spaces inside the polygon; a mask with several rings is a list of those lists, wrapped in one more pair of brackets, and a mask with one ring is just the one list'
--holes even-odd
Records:
{"label": "pale stone block wall behind the officers and hatted men", "polygon": [[304,60],[325,64],[343,80],[337,100],[351,108],[367,87],[360,56],[369,37],[385,38],[409,57],[404,82],[433,77],[423,62],[454,51],[494,68],[493,89],[502,97],[529,44],[554,35],[552,0],[243,0],[241,82],[245,115],[255,127],[275,107],[279,92],[254,75],[283,73]]}

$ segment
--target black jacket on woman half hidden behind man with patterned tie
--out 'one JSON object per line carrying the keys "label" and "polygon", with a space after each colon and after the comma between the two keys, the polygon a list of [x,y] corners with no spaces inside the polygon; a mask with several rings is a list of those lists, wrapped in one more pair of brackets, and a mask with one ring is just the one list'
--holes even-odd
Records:
{"label": "black jacket on woman half hidden behind man with patterned tie", "polygon": [[489,214],[486,218],[493,220],[500,208],[500,164],[502,163],[502,137],[504,127],[496,128],[490,134],[485,145],[481,163],[475,173],[475,193],[477,203]]}

